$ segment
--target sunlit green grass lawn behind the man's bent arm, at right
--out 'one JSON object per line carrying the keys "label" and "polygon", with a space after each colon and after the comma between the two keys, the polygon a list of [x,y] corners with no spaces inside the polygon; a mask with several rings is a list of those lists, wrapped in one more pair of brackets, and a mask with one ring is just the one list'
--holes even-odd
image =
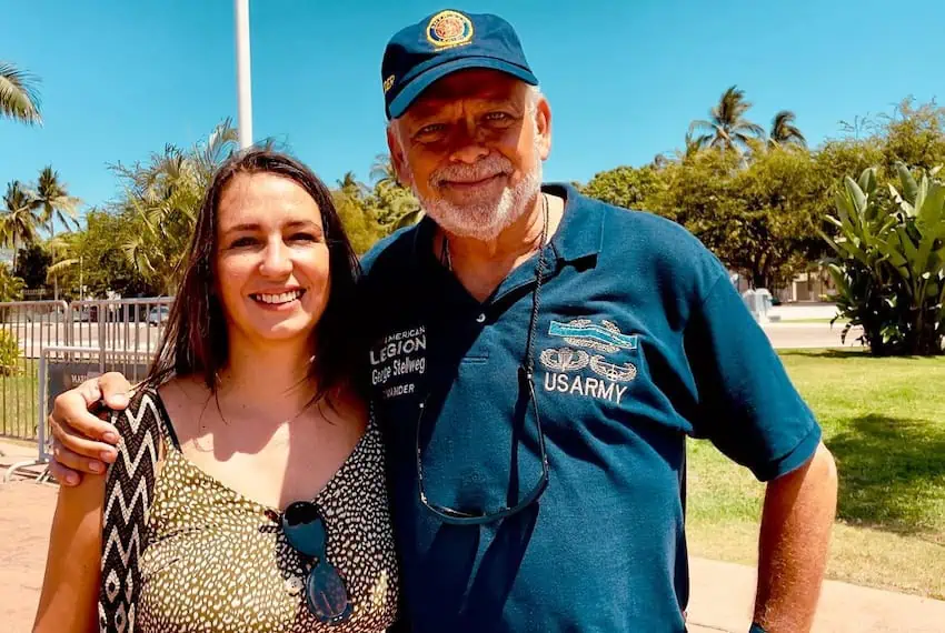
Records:
{"label": "sunlit green grass lawn behind the man's bent arm, at right", "polygon": [[[828,577],[945,599],[945,358],[780,355],[837,461]],[[763,484],[706,442],[689,451],[690,551],[756,563]]]}

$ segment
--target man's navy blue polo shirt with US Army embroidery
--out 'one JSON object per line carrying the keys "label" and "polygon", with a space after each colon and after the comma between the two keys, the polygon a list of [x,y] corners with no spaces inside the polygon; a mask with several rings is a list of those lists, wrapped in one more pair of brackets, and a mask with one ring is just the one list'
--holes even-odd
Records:
{"label": "man's navy blue polo shirt with US Army embroidery", "polygon": [[[720,262],[654,214],[580,195],[545,249],[535,393],[550,466],[536,504],[484,526],[541,475],[526,354],[535,259],[480,303],[425,220],[366,258],[369,372],[387,448],[414,631],[684,631],[685,439],[707,438],[766,481],[820,430]],[[426,402],[420,420],[420,403]]]}

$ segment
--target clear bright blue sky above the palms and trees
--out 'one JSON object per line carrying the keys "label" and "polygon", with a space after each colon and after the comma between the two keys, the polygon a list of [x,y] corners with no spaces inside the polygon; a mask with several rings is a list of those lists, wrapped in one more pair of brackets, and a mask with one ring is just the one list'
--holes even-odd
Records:
{"label": "clear bright blue sky above the palms and trees", "polygon": [[[253,132],[329,184],[386,150],[380,59],[444,8],[518,30],[553,108],[546,180],[586,182],[682,145],[733,83],[767,127],[797,113],[812,144],[839,120],[945,91],[945,2],[878,0],[250,0]],[[190,145],[236,121],[231,0],[4,2],[0,60],[42,79],[42,128],[0,120],[0,187],[51,163],[87,205],[117,195],[108,164]]]}

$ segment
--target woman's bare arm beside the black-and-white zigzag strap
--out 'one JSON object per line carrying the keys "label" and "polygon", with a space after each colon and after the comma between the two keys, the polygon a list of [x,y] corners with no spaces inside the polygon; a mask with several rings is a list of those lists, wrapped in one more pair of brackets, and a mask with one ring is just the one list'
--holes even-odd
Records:
{"label": "woman's bare arm beside the black-and-white zigzag strap", "polygon": [[98,631],[105,476],[60,486],[33,633]]}

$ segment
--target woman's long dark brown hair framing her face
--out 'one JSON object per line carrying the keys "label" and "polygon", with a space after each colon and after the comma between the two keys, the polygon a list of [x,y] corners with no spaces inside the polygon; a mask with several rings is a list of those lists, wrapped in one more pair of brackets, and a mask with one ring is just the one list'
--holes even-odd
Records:
{"label": "woman's long dark brown hair framing her face", "polygon": [[233,154],[213,174],[197,218],[183,280],[146,384],[157,389],[172,375],[200,375],[212,393],[219,388],[219,372],[229,356],[226,319],[215,292],[219,204],[227,184],[240,173],[272,173],[291,179],[311,195],[321,212],[330,294],[312,333],[315,362],[310,376],[318,386],[314,401],[318,400],[352,378],[355,292],[361,270],[325,183],[298,160],[270,149]]}

